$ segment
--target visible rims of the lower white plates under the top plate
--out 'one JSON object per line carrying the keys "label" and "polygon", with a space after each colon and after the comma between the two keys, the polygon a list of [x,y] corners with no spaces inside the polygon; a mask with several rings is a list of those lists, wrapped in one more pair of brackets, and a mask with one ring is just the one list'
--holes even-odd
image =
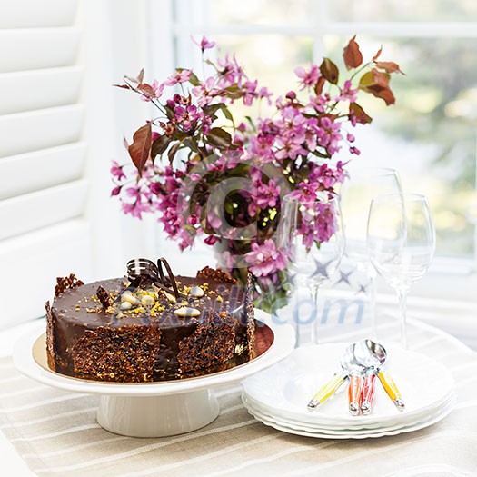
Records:
{"label": "visible rims of the lower white plates under the top plate", "polygon": [[248,412],[253,415],[253,417],[263,424],[273,427],[277,431],[287,432],[290,434],[302,435],[304,437],[313,437],[313,438],[320,438],[320,439],[367,439],[367,438],[377,438],[377,437],[384,437],[387,435],[397,435],[404,432],[414,432],[419,431],[420,429],[424,429],[425,427],[429,427],[436,422],[441,421],[444,417],[446,417],[451,411],[455,404],[455,398],[452,399],[445,407],[443,407],[440,411],[434,413],[428,419],[415,422],[412,425],[404,425],[404,426],[397,426],[397,427],[390,427],[390,428],[383,428],[377,430],[368,430],[363,432],[328,432],[328,431],[314,431],[308,432],[303,429],[293,428],[289,425],[285,425],[283,422],[277,422],[273,419],[268,418],[267,416],[263,415],[261,412],[254,409],[252,406],[249,407],[247,404]]}

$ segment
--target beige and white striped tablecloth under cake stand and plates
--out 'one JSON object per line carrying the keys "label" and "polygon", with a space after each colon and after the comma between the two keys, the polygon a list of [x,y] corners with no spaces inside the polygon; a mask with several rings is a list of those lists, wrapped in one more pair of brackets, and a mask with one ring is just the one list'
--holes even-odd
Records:
{"label": "beige and white striped tablecloth under cake stand and plates", "polygon": [[[449,367],[458,394],[447,418],[409,434],[342,441],[278,432],[248,414],[234,385],[217,390],[222,411],[204,429],[129,438],[97,424],[97,397],[36,383],[8,357],[0,359],[0,428],[41,476],[477,476],[477,353],[419,323],[409,336],[412,350]],[[10,477],[1,458],[0,475]]]}

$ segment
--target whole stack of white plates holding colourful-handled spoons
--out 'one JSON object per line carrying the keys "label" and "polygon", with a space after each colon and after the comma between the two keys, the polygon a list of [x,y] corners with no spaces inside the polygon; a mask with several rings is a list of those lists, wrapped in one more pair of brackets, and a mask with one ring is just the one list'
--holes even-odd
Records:
{"label": "whole stack of white plates holding colourful-handled spoons", "polygon": [[455,403],[452,375],[441,363],[411,351],[389,348],[392,373],[406,408],[396,409],[378,378],[373,412],[348,412],[346,385],[314,412],[306,404],[333,373],[347,343],[294,350],[281,363],[243,381],[243,403],[258,421],[275,429],[324,439],[363,439],[412,432],[440,421]]}

